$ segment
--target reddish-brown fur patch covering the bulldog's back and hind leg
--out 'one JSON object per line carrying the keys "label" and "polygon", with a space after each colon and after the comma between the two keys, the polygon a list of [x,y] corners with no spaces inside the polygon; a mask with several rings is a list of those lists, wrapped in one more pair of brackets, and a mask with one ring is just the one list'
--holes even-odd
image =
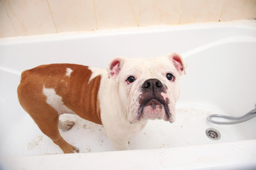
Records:
{"label": "reddish-brown fur patch covering the bulldog's back and hind leg", "polygon": [[[72,69],[70,76],[66,69]],[[63,152],[77,152],[69,145],[58,131],[59,113],[46,103],[43,94],[45,88],[53,88],[62,97],[65,106],[81,118],[102,125],[100,119],[100,101],[97,93],[101,76],[90,80],[92,71],[78,64],[48,64],[29,69],[21,74],[18,86],[18,100],[23,109],[31,115],[43,133],[48,135]],[[89,82],[90,80],[90,82]]]}

